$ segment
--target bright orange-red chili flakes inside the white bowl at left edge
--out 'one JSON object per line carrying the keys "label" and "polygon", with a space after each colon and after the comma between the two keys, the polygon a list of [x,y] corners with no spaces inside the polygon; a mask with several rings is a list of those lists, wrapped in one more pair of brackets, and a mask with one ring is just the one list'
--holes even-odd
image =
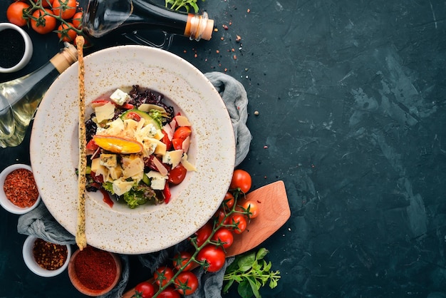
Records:
{"label": "bright orange-red chili flakes inside the white bowl at left edge", "polygon": [[38,190],[33,173],[26,169],[16,169],[9,173],[3,185],[6,197],[18,207],[31,207],[38,198]]}

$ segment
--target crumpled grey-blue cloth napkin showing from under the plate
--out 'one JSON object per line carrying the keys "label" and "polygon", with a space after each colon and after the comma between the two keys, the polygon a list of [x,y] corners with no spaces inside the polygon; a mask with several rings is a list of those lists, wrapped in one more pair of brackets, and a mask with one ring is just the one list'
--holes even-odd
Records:
{"label": "crumpled grey-blue cloth napkin showing from under the plate", "polygon": [[[251,143],[251,133],[247,128],[246,122],[248,118],[247,106],[248,97],[242,83],[237,81],[232,76],[225,73],[211,72],[204,73],[212,85],[217,89],[224,104],[227,107],[229,116],[232,120],[234,128],[234,136],[236,140],[236,160],[235,166],[242,163],[249,152],[249,145]],[[75,245],[76,240],[71,233],[65,230],[56,220],[51,216],[46,209],[43,202],[25,215],[19,217],[17,223],[17,232],[24,235],[33,235],[48,242],[53,242],[61,245]],[[175,247],[167,250],[155,252],[147,255],[138,256],[140,262],[150,270],[152,274],[157,267],[166,264],[175,252],[185,250],[187,245],[190,245],[187,240],[181,242]],[[123,261],[123,274],[118,285],[112,289],[108,294],[101,296],[101,298],[120,298],[122,297],[125,287],[128,283],[129,277],[129,262],[127,255],[120,255]],[[192,298],[218,298],[222,297],[221,290],[223,284],[224,271],[234,258],[227,258],[227,262],[222,270],[219,272],[204,272],[202,268],[195,269],[195,274],[199,279],[199,287],[197,291],[188,296]]]}

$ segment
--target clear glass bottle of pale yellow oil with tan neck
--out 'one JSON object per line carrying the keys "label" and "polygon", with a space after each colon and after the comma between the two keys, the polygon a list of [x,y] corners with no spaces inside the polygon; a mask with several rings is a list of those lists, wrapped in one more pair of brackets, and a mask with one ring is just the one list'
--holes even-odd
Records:
{"label": "clear glass bottle of pale yellow oil with tan neck", "polygon": [[15,147],[24,140],[38,104],[54,80],[78,60],[75,46],[65,43],[41,68],[13,81],[0,83],[0,146]]}

